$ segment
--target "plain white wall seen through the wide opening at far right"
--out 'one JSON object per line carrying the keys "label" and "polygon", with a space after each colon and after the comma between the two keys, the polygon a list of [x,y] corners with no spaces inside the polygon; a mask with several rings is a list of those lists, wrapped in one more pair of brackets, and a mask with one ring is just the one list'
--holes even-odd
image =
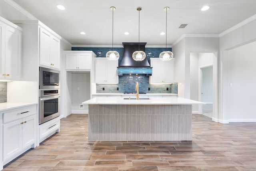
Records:
{"label": "plain white wall seen through the wide opening at far right", "polygon": [[256,121],[256,42],[228,51],[229,121]]}

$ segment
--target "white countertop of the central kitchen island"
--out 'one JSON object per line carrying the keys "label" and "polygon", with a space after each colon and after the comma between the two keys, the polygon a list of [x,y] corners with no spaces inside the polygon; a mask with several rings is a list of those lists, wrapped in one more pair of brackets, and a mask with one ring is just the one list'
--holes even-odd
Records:
{"label": "white countertop of the central kitchen island", "polygon": [[[131,98],[136,98],[131,97]],[[124,99],[124,97],[94,97],[82,104],[115,104],[115,105],[194,105],[205,104],[200,101],[181,97],[151,97],[149,99]]]}

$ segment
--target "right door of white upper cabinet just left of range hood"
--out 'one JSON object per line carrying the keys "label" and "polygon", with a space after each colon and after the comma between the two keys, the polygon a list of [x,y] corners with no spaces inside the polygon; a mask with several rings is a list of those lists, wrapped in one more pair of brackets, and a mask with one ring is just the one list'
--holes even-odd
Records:
{"label": "right door of white upper cabinet just left of range hood", "polygon": [[106,60],[106,80],[108,83],[118,83],[118,61]]}

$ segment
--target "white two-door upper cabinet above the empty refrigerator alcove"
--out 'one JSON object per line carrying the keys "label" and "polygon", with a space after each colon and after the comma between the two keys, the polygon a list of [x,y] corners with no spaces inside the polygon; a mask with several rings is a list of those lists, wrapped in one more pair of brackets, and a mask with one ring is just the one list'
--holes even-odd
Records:
{"label": "white two-door upper cabinet above the empty refrigerator alcove", "polygon": [[66,70],[91,70],[92,53],[66,53]]}

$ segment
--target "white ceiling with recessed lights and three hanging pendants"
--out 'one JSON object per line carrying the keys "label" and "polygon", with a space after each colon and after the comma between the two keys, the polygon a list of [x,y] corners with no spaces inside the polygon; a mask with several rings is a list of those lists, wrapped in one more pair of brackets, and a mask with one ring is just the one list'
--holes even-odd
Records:
{"label": "white ceiling with recessed lights and three hanging pendants", "polygon": [[[138,6],[140,42],[165,46],[183,34],[220,34],[256,14],[256,0],[13,0],[46,26],[74,45],[112,45],[114,10],[114,45],[138,42]],[[59,10],[56,5],[65,6]],[[201,11],[202,6],[210,9]],[[188,24],[179,29],[180,24]],[[80,32],[85,32],[81,35]],[[129,32],[129,35],[124,35]]]}

